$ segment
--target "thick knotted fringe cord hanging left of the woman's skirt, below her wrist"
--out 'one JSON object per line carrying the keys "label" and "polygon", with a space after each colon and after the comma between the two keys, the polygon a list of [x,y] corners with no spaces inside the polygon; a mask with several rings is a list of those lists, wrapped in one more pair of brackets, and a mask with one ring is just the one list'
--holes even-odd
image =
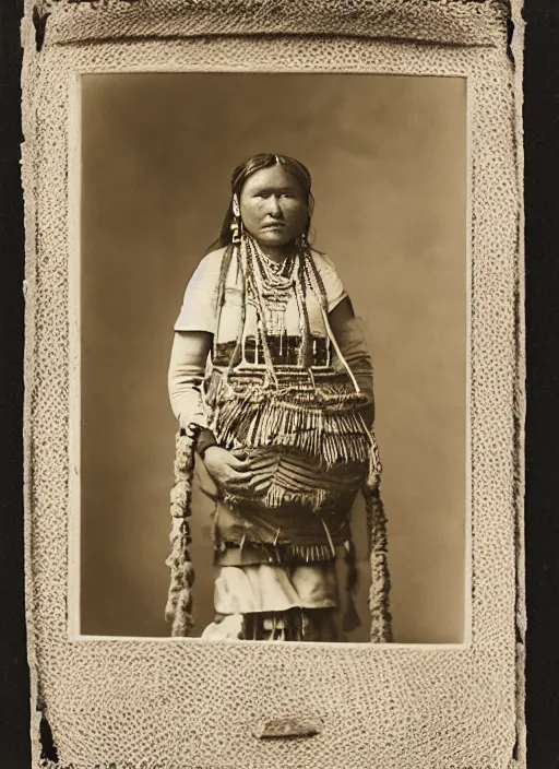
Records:
{"label": "thick knotted fringe cord hanging left of the woman's skirt, below her wrist", "polygon": [[[170,514],[174,521],[169,540],[171,552],[166,559],[170,569],[170,584],[165,607],[165,619],[171,624],[171,636],[190,636],[192,617],[192,585],[194,569],[188,547],[191,544],[188,518],[191,514],[194,447],[200,425],[189,425],[186,434],[176,437],[175,485],[170,493]],[[178,521],[178,524],[177,524]]]}

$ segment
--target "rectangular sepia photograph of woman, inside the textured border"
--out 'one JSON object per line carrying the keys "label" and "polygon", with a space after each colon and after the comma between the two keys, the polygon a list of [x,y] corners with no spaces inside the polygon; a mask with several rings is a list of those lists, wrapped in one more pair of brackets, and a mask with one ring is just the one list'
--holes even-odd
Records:
{"label": "rectangular sepia photograph of woman, inside the textured border", "polygon": [[466,643],[466,80],[99,73],[79,104],[70,626]]}

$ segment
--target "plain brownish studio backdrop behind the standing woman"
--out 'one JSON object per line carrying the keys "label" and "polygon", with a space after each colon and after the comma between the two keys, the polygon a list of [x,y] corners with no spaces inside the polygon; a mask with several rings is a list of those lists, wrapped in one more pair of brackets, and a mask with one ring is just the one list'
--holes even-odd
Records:
{"label": "plain brownish studio backdrop behind the standing woman", "polygon": [[[452,78],[86,75],[82,91],[81,630],[166,636],[173,324],[233,168],[301,159],[314,242],[373,357],[394,640],[461,642],[466,587],[466,87]],[[213,615],[194,496],[197,634]],[[368,563],[354,509],[361,628]]]}

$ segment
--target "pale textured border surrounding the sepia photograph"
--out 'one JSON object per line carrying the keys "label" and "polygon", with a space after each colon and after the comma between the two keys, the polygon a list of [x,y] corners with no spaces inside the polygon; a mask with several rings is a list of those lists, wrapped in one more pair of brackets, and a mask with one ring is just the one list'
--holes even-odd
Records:
{"label": "pale textured border surrounding the sepia photograph", "polygon": [[[26,589],[36,698],[32,705],[37,708],[32,724],[35,766],[39,764],[40,713],[57,748],[58,762],[51,766],[60,767],[110,762],[119,769],[524,766],[522,62],[521,56],[513,63],[507,55],[503,3],[448,3],[460,13],[447,13],[447,26],[441,26],[437,23],[442,19],[437,15],[441,2],[409,2],[406,24],[415,17],[431,29],[427,39],[432,42],[435,36],[443,43],[448,42],[442,33],[449,29],[449,17],[463,20],[474,5],[483,9],[478,25],[471,25],[468,35],[462,27],[462,37],[455,39],[455,35],[452,46],[370,39],[386,37],[378,19],[377,26],[372,20],[374,28],[359,37],[238,37],[243,28],[242,9],[250,4],[234,3],[237,15],[231,13],[231,17],[237,26],[233,25],[233,32],[201,38],[205,34],[201,20],[207,16],[200,8],[207,11],[212,3],[188,3],[181,10],[192,11],[194,26],[179,25],[179,29],[190,36],[170,39],[167,16],[160,13],[171,5],[177,9],[170,0],[153,3],[152,16],[148,12],[138,16],[138,4],[135,21],[127,17],[122,0],[108,3],[106,10],[97,3],[97,9],[87,4],[69,11],[68,4],[51,2],[50,32],[39,54],[31,15],[24,24]],[[270,10],[274,3],[259,4]],[[280,11],[285,9],[285,3],[275,4]],[[330,9],[333,4],[325,3]],[[346,4],[338,2],[336,8],[343,10]],[[402,3],[380,4],[385,10],[384,23],[388,14],[405,32],[406,24],[399,27]],[[143,5],[150,10],[150,3]],[[300,8],[299,3],[292,5]],[[367,15],[370,3],[353,7],[360,9],[361,21],[364,14],[372,19]],[[79,14],[74,15],[79,24],[71,12]],[[474,16],[467,17],[472,21]],[[103,26],[97,37],[105,36],[106,42],[87,39],[92,33],[84,19]],[[107,22],[119,19],[121,26],[112,26],[108,36]],[[167,23],[163,32],[156,24],[162,19]],[[428,19],[431,27],[426,25]],[[259,24],[265,26],[264,22]],[[308,31],[312,16],[306,16],[305,23]],[[245,25],[251,28],[250,17]],[[522,32],[521,26],[516,28]],[[119,29],[120,35],[116,34]],[[254,29],[262,31],[258,24]],[[157,39],[157,34],[167,39]],[[134,37],[133,43],[128,39]],[[72,39],[79,44],[71,44]],[[75,472],[69,465],[68,443],[69,370],[73,365],[68,355],[70,85],[80,72],[183,69],[361,71],[468,79],[473,615],[467,649],[69,640],[69,478]],[[285,715],[319,717],[324,727],[320,735],[297,742],[265,743],[252,736],[259,720]]]}

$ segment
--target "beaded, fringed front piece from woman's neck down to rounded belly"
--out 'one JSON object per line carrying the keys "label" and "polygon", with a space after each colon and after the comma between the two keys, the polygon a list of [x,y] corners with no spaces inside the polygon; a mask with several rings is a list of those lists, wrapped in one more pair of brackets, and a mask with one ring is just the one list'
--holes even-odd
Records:
{"label": "beaded, fringed front piece from woman's neck down to rounded belly", "polygon": [[[226,495],[224,501],[261,511],[297,502],[312,513],[341,508],[348,512],[371,465],[378,474],[380,463],[364,419],[369,398],[359,391],[347,367],[333,366],[335,340],[320,273],[309,252],[275,264],[247,236],[238,257],[243,306],[255,308],[257,334],[247,339],[245,310],[236,342],[227,346],[214,342],[204,402],[219,446],[242,447],[252,456],[273,453],[276,472],[265,493]],[[226,256],[218,317],[227,262]],[[287,336],[284,329],[285,308],[294,289],[298,338]],[[326,339],[310,333],[305,301],[309,291],[319,301]]]}

